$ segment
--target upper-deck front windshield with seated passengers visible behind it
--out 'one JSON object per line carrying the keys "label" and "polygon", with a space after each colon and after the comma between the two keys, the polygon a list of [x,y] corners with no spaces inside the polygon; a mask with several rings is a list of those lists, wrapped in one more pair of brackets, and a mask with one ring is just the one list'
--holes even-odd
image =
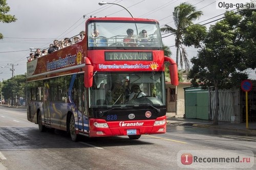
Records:
{"label": "upper-deck front windshield with seated passengers visible behind it", "polygon": [[89,49],[162,48],[156,22],[97,21],[88,25]]}

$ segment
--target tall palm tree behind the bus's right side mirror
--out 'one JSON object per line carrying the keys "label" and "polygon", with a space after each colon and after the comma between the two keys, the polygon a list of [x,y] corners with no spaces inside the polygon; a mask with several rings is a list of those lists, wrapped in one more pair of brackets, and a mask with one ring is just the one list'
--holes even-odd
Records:
{"label": "tall palm tree behind the bus's right side mirror", "polygon": [[189,60],[187,59],[187,53],[185,48],[182,46],[183,34],[186,31],[186,27],[193,25],[193,21],[203,15],[202,11],[196,11],[196,7],[188,4],[181,3],[179,6],[174,8],[173,18],[176,29],[165,25],[161,28],[161,32],[173,33],[176,35],[175,46],[176,46],[176,63],[178,66],[179,54],[180,54],[180,65],[183,68],[183,62],[185,63],[185,69],[189,68]]}

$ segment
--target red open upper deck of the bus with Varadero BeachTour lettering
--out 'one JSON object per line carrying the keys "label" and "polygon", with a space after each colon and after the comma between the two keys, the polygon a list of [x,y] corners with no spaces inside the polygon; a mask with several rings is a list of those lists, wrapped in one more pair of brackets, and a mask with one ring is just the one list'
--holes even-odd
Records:
{"label": "red open upper deck of the bus with Varadero BeachTour lettering", "polygon": [[[97,36],[95,31],[99,33]],[[69,46],[28,62],[28,80],[83,72],[85,57],[91,61],[94,70],[163,70],[162,40],[156,20],[90,18],[86,21],[84,38],[80,41],[71,39],[73,42]]]}

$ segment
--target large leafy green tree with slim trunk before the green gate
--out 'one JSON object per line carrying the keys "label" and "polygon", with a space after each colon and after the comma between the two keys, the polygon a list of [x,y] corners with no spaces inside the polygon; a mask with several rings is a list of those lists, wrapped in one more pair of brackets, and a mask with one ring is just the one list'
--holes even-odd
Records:
{"label": "large leafy green tree with slim trunk before the green gate", "polygon": [[[209,28],[204,40],[205,46],[201,48],[197,57],[191,59],[194,65],[188,75],[193,86],[201,86],[203,89],[214,87],[216,99],[214,125],[218,125],[219,89],[238,86],[242,80],[248,78],[243,72],[248,68],[250,49],[248,50],[247,47],[251,46],[255,49],[255,41],[246,40],[247,35],[250,34],[246,31],[254,32],[254,30],[241,29],[242,26],[246,26],[241,24],[246,17],[234,12],[226,12],[225,16],[225,19]],[[250,57],[255,60],[255,55],[254,51]]]}

